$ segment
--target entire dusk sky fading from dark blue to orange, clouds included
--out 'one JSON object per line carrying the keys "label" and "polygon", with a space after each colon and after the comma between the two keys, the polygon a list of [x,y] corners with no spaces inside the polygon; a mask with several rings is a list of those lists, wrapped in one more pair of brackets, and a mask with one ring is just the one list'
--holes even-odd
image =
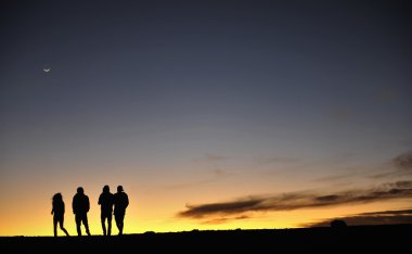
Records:
{"label": "entire dusk sky fading from dark blue to orange, clouds included", "polygon": [[126,233],[412,223],[411,11],[1,1],[0,236],[52,236],[55,192],[75,234],[79,186],[102,234],[104,185]]}

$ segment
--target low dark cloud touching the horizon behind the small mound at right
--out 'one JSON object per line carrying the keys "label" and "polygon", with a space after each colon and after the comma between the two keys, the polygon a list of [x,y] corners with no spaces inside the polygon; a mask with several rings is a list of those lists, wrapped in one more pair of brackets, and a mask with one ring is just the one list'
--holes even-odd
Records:
{"label": "low dark cloud touching the horizon behind the small mound at right", "polygon": [[[327,218],[316,223],[301,224],[300,227],[329,227],[335,218]],[[340,217],[349,226],[359,225],[385,225],[385,224],[412,224],[412,209],[382,211],[373,213],[355,214]]]}

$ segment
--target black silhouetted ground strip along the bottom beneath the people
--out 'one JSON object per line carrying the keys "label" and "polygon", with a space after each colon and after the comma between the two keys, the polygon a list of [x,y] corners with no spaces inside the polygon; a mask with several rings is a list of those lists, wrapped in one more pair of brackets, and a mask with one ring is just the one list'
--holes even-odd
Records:
{"label": "black silhouetted ground strip along the bottom beneath the people", "polygon": [[2,253],[396,253],[412,225],[223,230],[95,237],[3,237]]}

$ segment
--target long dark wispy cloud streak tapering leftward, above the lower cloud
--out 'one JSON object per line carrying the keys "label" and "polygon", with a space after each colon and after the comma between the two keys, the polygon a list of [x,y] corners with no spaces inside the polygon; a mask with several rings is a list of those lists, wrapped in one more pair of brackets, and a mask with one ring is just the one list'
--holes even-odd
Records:
{"label": "long dark wispy cloud streak tapering leftward, above the lower cloud", "polygon": [[383,183],[376,188],[351,189],[333,193],[291,192],[274,195],[245,196],[228,202],[186,205],[179,217],[210,220],[210,217],[242,216],[247,213],[293,211],[343,204],[370,203],[394,199],[411,199],[412,181]]}

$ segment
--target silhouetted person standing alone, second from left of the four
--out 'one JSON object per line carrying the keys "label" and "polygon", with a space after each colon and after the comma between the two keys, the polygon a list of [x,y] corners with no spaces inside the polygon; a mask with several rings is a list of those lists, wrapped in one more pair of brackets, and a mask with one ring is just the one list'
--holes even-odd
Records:
{"label": "silhouetted person standing alone, second from left of the four", "polygon": [[77,234],[81,236],[81,223],[85,225],[86,233],[90,236],[89,223],[87,220],[87,213],[90,209],[89,196],[85,195],[83,188],[77,188],[77,193],[73,196],[73,213],[75,214]]}

